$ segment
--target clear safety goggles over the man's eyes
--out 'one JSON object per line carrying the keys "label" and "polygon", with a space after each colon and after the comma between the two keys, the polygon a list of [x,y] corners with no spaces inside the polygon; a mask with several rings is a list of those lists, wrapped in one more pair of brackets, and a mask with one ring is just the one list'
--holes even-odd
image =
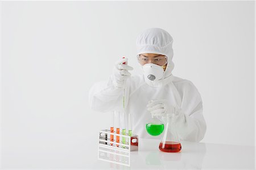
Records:
{"label": "clear safety goggles over the man's eyes", "polygon": [[167,56],[146,57],[143,55],[138,55],[137,59],[141,65],[144,65],[147,63],[153,63],[153,64],[163,66],[168,63]]}

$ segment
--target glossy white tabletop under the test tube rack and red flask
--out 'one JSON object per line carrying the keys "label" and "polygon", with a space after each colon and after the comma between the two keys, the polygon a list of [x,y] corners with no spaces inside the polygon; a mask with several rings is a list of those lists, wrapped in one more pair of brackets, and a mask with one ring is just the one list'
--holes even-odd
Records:
{"label": "glossy white tabletop under the test tube rack and red flask", "polygon": [[[72,139],[73,140],[73,139]],[[22,141],[20,141],[22,144]],[[2,168],[11,169],[254,169],[252,146],[182,142],[181,151],[159,151],[159,140],[139,139],[130,167],[98,160],[97,139],[76,144],[30,144],[3,148]],[[27,142],[26,142],[27,143]],[[24,143],[24,144],[26,144]]]}

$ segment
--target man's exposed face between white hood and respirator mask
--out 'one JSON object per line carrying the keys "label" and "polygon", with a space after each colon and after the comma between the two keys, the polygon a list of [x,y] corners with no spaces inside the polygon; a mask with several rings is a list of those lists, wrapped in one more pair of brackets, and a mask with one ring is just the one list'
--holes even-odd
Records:
{"label": "man's exposed face between white hood and respirator mask", "polygon": [[138,60],[141,65],[153,63],[162,66],[164,71],[166,71],[167,57],[164,55],[155,53],[142,53],[138,56]]}

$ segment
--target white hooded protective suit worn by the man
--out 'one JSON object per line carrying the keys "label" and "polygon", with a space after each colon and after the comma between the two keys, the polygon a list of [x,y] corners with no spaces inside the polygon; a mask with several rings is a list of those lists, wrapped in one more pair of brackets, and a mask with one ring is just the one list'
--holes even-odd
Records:
{"label": "white hooded protective suit worn by the man", "polygon": [[[200,93],[191,81],[172,75],[172,37],[160,28],[149,28],[137,38],[137,55],[155,53],[168,57],[164,78],[150,81],[141,76],[131,76],[126,80],[126,112],[133,115],[133,134],[139,138],[160,139],[162,135],[151,136],[146,131],[146,123],[152,122],[146,105],[150,99],[166,99],[171,106],[179,106],[179,117],[175,126],[180,140],[200,142],[204,138],[206,123]],[[122,110],[122,88],[115,88],[113,76],[108,81],[94,84],[89,92],[89,103],[93,110],[110,112]]]}

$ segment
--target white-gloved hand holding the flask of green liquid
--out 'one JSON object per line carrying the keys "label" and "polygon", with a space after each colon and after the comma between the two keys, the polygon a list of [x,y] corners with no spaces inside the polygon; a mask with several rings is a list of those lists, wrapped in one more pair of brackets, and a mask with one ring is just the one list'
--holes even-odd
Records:
{"label": "white-gloved hand holding the flask of green liquid", "polygon": [[148,101],[147,110],[150,111],[152,118],[156,117],[166,123],[167,118],[177,118],[181,115],[178,106],[172,106],[166,99]]}

